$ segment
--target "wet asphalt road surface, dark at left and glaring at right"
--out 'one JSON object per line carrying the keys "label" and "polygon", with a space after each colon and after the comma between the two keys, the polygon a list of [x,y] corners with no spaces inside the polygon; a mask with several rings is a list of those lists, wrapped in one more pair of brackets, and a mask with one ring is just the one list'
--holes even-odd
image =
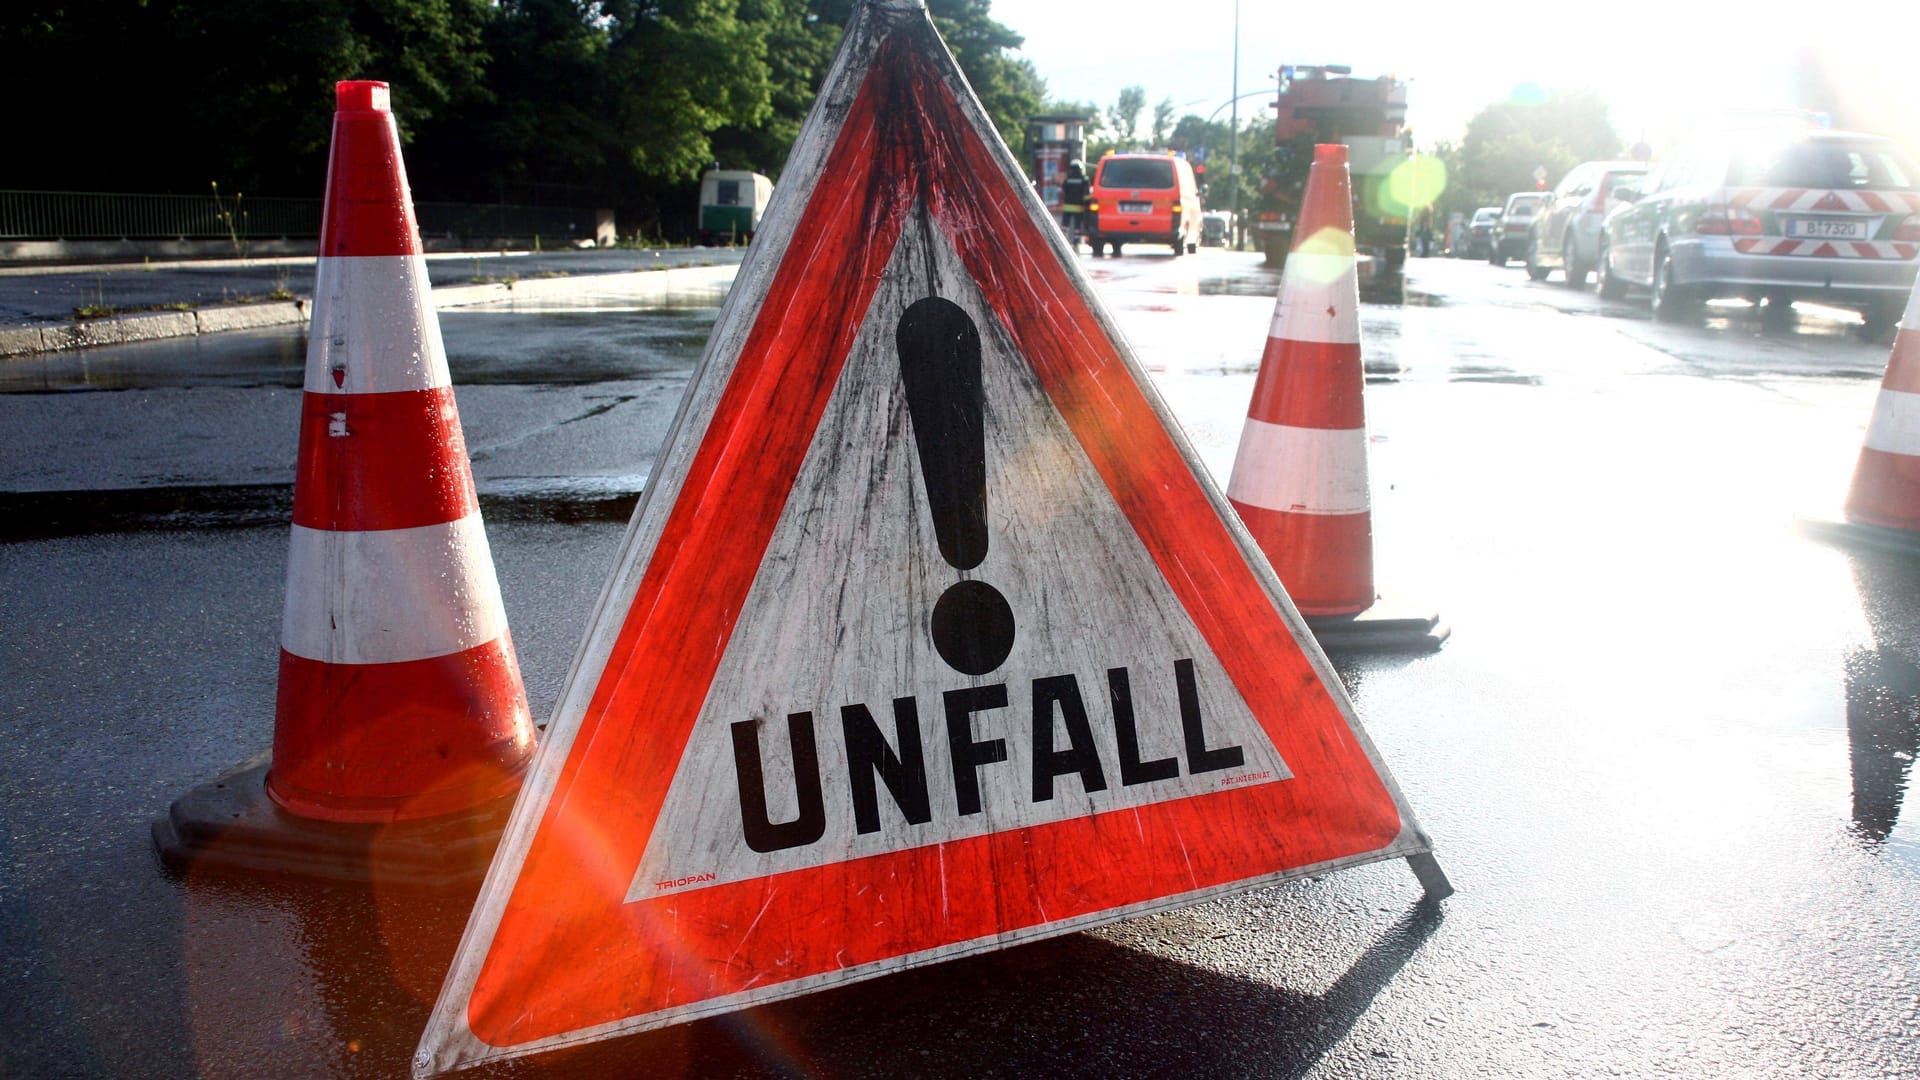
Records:
{"label": "wet asphalt road surface, dark at left and glaring at right", "polygon": [[[1225,479],[1273,275],[1087,265]],[[474,1076],[1920,1076],[1920,567],[1793,530],[1885,348],[1413,284],[1363,313],[1375,565],[1453,638],[1336,669],[1452,899],[1365,867]],[[536,715],[710,319],[442,313]],[[0,1074],[403,1074],[465,917],[154,861],[273,728],[300,342],[230,338],[0,396]]]}

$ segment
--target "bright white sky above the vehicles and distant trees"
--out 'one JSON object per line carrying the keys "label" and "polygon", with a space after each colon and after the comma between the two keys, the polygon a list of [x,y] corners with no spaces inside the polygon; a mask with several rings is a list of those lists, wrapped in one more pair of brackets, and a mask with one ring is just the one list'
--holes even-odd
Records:
{"label": "bright white sky above the vehicles and distant trees", "polygon": [[[1164,98],[1175,115],[1206,117],[1233,98],[1235,0],[996,0],[993,17],[1027,38],[1054,100],[1112,106],[1121,86],[1146,88],[1140,127]],[[1348,63],[1354,75],[1411,79],[1407,123],[1427,146],[1459,138],[1467,121],[1517,86],[1592,88],[1613,106],[1622,138],[1655,150],[1699,117],[1730,108],[1791,104],[1797,48],[1814,40],[1870,92],[1920,96],[1920,75],[1895,79],[1895,52],[1920,37],[1916,0],[1580,0],[1373,4],[1238,0],[1240,92],[1271,85],[1283,63]],[[1365,25],[1354,21],[1365,19]],[[1876,60],[1874,48],[1880,48]],[[1273,98],[1240,102],[1242,121]],[[1271,115],[1271,110],[1267,110]],[[1219,119],[1229,115],[1219,108]],[[1887,133],[1897,135],[1897,133]]]}

